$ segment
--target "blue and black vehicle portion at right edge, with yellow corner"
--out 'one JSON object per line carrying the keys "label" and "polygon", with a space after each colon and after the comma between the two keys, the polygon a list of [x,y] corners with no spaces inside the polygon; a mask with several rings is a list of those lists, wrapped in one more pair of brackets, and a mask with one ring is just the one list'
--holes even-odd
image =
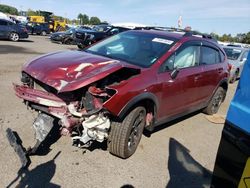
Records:
{"label": "blue and black vehicle portion at right edge, with yellow corner", "polygon": [[215,162],[212,188],[250,187],[250,54],[229,106]]}

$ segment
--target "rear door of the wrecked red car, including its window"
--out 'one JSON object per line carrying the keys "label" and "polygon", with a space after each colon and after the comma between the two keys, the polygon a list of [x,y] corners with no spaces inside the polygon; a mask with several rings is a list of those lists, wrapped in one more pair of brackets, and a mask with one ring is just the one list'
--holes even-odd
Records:
{"label": "rear door of the wrecked red car, including its window", "polygon": [[201,46],[200,67],[202,68],[199,99],[208,101],[223,77],[223,63],[219,49],[214,45],[203,42]]}

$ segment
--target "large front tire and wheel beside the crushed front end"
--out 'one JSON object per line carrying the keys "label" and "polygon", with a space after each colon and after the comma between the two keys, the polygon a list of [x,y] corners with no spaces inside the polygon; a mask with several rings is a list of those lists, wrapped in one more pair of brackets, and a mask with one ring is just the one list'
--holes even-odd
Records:
{"label": "large front tire and wheel beside the crushed front end", "polygon": [[133,155],[141,140],[146,121],[144,107],[136,107],[122,122],[112,122],[108,138],[110,153],[126,159]]}

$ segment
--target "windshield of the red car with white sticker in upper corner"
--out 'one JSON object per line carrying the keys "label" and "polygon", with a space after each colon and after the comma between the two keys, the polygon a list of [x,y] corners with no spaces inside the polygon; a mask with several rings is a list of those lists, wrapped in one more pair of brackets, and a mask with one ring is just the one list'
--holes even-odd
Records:
{"label": "windshield of the red car with white sticker in upper corner", "polygon": [[174,39],[151,33],[129,31],[112,36],[86,51],[150,67],[175,43]]}

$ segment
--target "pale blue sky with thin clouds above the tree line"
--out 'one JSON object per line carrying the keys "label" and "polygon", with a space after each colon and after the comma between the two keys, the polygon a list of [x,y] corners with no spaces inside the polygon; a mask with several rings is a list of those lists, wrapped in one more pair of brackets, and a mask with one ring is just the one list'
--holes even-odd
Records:
{"label": "pale blue sky with thin clouds above the tree line", "polygon": [[250,0],[0,0],[17,9],[47,10],[76,18],[79,13],[110,23],[135,22],[175,26],[182,15],[183,27],[218,34],[250,31]]}

